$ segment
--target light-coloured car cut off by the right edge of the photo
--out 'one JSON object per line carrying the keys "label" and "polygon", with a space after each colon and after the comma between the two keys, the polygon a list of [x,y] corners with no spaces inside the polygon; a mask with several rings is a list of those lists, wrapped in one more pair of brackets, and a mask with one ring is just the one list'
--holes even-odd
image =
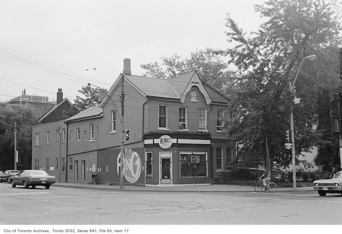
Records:
{"label": "light-coloured car cut off by the right edge of the photo", "polygon": [[342,195],[342,171],[337,171],[332,179],[316,180],[313,182],[313,189],[320,196],[327,193],[340,193]]}

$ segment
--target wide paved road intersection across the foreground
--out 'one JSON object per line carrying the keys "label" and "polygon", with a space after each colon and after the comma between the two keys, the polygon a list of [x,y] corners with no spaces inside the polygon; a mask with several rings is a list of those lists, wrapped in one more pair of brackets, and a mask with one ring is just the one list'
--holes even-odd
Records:
{"label": "wide paved road intersection across the foreground", "polygon": [[[0,184],[0,223],[52,225],[342,224],[341,195],[314,191],[153,192]],[[334,214],[334,215],[333,215]]]}

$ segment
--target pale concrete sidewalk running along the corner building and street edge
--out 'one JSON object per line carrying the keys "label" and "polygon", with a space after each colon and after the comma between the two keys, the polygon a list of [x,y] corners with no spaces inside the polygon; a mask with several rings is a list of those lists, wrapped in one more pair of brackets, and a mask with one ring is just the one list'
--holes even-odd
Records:
{"label": "pale concrete sidewalk running along the corner building and street edge", "polygon": [[[52,186],[64,186],[71,188],[89,188],[89,189],[107,189],[119,191],[145,191],[145,192],[255,192],[254,186],[240,186],[240,185],[173,185],[173,186],[133,186],[124,185],[120,189],[120,185],[90,185],[84,183],[61,183],[57,182]],[[277,188],[276,192],[296,192],[304,193],[314,191],[312,187],[298,187],[296,190],[293,188]]]}

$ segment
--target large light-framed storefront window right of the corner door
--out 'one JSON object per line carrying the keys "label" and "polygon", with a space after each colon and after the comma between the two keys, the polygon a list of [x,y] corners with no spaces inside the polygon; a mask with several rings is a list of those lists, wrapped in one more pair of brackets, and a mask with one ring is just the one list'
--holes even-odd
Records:
{"label": "large light-framed storefront window right of the corner door", "polygon": [[206,177],[206,153],[181,153],[181,177]]}

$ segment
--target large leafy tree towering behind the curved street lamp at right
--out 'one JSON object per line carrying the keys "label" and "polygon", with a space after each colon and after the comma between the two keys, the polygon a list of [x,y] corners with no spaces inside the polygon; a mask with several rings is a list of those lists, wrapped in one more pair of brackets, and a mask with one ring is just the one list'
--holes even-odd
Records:
{"label": "large leafy tree towering behind the curved street lamp at right", "polygon": [[[296,81],[294,107],[296,152],[307,152],[319,142],[317,124],[320,98],[331,100],[338,91],[338,45],[341,38],[337,1],[270,0],[255,10],[267,21],[249,37],[227,15],[226,35],[235,46],[224,51],[240,76],[232,80],[231,106],[236,118],[227,133],[241,145],[238,161],[288,165],[291,151],[284,149],[289,129],[290,91],[302,59],[317,55],[315,63],[305,61]],[[338,7],[338,6],[337,6]],[[259,159],[258,159],[259,158]],[[262,158],[263,160],[261,160]],[[248,160],[245,160],[248,159]]]}

